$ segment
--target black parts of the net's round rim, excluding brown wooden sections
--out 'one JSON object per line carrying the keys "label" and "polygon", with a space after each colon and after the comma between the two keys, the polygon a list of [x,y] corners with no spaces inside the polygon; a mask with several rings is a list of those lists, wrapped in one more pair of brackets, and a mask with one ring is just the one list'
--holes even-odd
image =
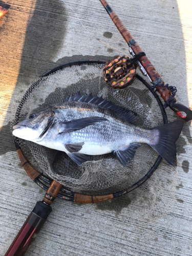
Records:
{"label": "black parts of the net's round rim, excluding brown wooden sections", "polygon": [[[58,71],[58,70],[62,70],[63,68],[66,68],[66,67],[71,67],[73,65],[81,65],[83,63],[88,63],[88,64],[91,64],[91,63],[95,63],[95,64],[105,64],[106,61],[104,60],[80,60],[80,61],[74,61],[74,62],[70,62],[70,63],[67,63],[65,65],[61,65],[61,66],[58,66],[50,71],[48,71],[47,73],[45,73],[44,75],[42,75],[41,77],[39,77],[39,79],[37,79],[36,82],[32,83],[31,87],[26,91],[25,95],[23,96],[22,100],[20,101],[20,104],[17,108],[17,111],[16,111],[16,116],[15,116],[15,119],[18,120],[19,118],[19,114],[20,114],[20,111],[22,109],[22,106],[25,102],[25,100],[28,98],[29,94],[33,91],[33,89],[35,88],[35,86],[37,85],[38,81],[40,79],[42,79],[43,77],[46,77],[52,73],[54,73],[55,71]],[[165,123],[168,123],[167,121],[167,116],[166,116],[166,112],[165,112],[165,109],[163,108],[163,104],[159,98],[159,96],[151,89],[151,86],[150,84],[148,84],[148,82],[146,80],[144,80],[140,75],[136,74],[136,78],[139,79],[143,84],[144,86],[150,90],[150,92],[153,94],[153,96],[156,98],[157,102],[158,102],[158,105],[159,105],[159,108],[160,108],[160,111],[161,111],[161,114],[162,114],[162,117],[163,117],[163,122],[164,124]],[[20,148],[16,142],[16,139],[15,139],[15,146],[16,146],[16,150],[18,150],[18,148]],[[147,181],[151,176],[152,174],[155,172],[155,170],[157,169],[157,167],[159,166],[160,162],[162,160],[162,157],[161,156],[158,156],[154,165],[151,167],[150,170],[148,170],[148,172],[139,180],[137,181],[135,184],[133,184],[130,188],[128,189],[125,189],[125,190],[122,190],[122,191],[119,191],[117,193],[114,193],[112,194],[113,195],[113,198],[115,197],[119,197],[121,195],[125,195],[129,192],[131,192],[132,190],[134,190],[135,188],[139,187],[140,185],[142,185],[145,181]],[[44,181],[44,182],[41,182],[41,181]],[[36,184],[38,184],[41,188],[47,190],[49,188],[49,186],[46,185],[47,184],[51,184],[53,180],[47,176],[45,176],[44,174],[39,174],[38,177],[36,177],[34,179],[34,182]],[[67,200],[67,201],[74,201],[74,195],[76,193],[74,193],[73,191],[69,191],[66,187],[62,186],[60,191],[62,191],[63,193],[67,194],[66,196],[63,196],[63,194],[60,194],[58,193],[57,194],[57,197],[58,198],[61,198],[61,199],[64,199],[64,200]],[[86,194],[87,195],[87,194]],[[106,194],[99,194],[99,196],[102,196],[102,195],[106,195]],[[92,195],[90,195],[92,196]]]}

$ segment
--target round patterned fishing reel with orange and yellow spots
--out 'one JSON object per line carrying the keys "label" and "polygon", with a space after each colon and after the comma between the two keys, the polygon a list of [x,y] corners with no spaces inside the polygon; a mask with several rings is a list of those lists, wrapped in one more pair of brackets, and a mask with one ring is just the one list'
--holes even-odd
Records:
{"label": "round patterned fishing reel with orange and yellow spots", "polygon": [[104,80],[114,89],[122,89],[129,86],[135,78],[135,66],[129,66],[131,59],[128,56],[116,55],[106,62],[103,68]]}

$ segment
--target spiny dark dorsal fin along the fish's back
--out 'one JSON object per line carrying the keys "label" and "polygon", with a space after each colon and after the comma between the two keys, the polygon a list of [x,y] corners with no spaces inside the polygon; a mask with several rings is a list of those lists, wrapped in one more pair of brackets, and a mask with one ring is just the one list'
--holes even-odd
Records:
{"label": "spiny dark dorsal fin along the fish's back", "polygon": [[138,118],[138,116],[131,110],[122,109],[120,108],[120,106],[114,105],[111,101],[103,99],[102,96],[93,96],[92,93],[90,93],[89,95],[81,95],[80,92],[78,92],[76,95],[72,94],[70,97],[66,95],[66,99],[64,100],[64,102],[66,101],[86,102],[101,106],[105,109],[113,110],[120,114],[129,123],[135,122]]}

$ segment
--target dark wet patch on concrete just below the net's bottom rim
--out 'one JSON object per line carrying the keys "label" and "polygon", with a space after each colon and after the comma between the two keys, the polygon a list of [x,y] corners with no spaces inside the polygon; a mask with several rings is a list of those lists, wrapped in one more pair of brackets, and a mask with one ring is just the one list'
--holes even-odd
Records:
{"label": "dark wet patch on concrete just below the net's bottom rim", "polygon": [[114,198],[112,200],[101,202],[96,204],[96,207],[99,210],[110,210],[115,211],[116,214],[119,214],[123,208],[127,208],[127,206],[131,203],[131,199],[129,195],[120,196]]}

